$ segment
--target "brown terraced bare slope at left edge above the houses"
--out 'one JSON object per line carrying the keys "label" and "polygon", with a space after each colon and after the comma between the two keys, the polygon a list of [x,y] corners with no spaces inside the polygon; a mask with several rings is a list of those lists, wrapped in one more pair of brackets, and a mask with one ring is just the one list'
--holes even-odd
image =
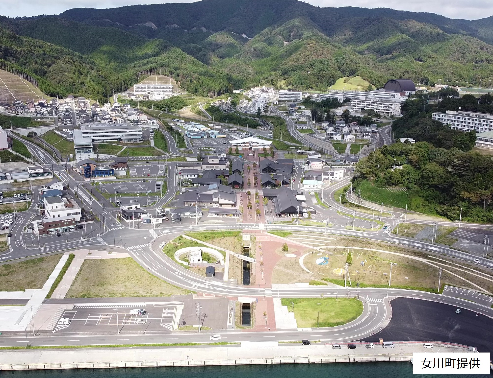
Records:
{"label": "brown terraced bare slope at left edge above the houses", "polygon": [[11,103],[16,100],[50,99],[29,81],[0,69],[0,102]]}

